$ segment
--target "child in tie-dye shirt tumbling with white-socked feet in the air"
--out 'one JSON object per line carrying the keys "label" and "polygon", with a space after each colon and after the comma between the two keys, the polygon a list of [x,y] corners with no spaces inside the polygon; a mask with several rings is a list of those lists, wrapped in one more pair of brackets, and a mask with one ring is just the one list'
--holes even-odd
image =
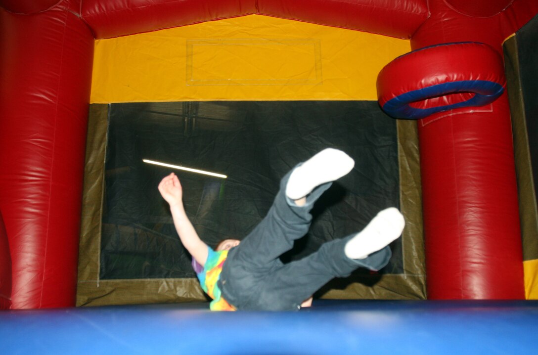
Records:
{"label": "child in tie-dye shirt tumbling with white-socked feet in the air", "polygon": [[183,208],[183,190],[172,173],[159,184],[170,205],[174,226],[194,261],[211,310],[297,310],[332,278],[344,278],[359,267],[379,270],[391,258],[388,247],[404,229],[400,211],[380,211],[358,233],[324,243],[307,257],[283,264],[279,257],[303,237],[312,222],[314,202],[332,181],[348,174],[355,161],[327,148],[297,165],[280,182],[267,216],[243,240],[225,239],[213,250],[204,243]]}

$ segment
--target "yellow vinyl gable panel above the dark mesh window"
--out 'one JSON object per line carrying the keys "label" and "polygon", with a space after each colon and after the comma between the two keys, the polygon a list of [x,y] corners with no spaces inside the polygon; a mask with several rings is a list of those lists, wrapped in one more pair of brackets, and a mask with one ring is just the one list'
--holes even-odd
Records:
{"label": "yellow vinyl gable panel above the dark mesh window", "polygon": [[91,103],[377,100],[408,40],[268,16],[95,41]]}

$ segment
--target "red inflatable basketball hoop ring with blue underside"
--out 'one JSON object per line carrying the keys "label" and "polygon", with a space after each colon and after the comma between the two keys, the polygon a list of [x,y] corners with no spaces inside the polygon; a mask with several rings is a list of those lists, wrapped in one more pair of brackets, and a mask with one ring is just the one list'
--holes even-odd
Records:
{"label": "red inflatable basketball hoop ring with blue underside", "polygon": [[478,42],[417,49],[388,63],[377,78],[381,108],[407,119],[490,104],[505,86],[501,56]]}

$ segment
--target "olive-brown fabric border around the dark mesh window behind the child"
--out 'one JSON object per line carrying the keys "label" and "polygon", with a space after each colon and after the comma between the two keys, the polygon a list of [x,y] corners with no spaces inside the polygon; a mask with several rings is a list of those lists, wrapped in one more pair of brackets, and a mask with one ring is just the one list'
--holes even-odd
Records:
{"label": "olive-brown fabric border around the dark mesh window behind the child", "polygon": [[[77,306],[206,301],[196,279],[100,280],[100,239],[108,104],[91,104],[79,252]],[[388,118],[387,118],[388,119]],[[426,299],[420,159],[415,121],[399,120],[400,207],[404,274],[336,279],[321,292],[333,299]]]}

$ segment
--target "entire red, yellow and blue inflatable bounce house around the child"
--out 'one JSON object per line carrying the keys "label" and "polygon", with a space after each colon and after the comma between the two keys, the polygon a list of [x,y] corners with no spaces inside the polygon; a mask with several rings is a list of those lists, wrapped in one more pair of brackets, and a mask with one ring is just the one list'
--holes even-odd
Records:
{"label": "entire red, yellow and blue inflatable bounce house around the child", "polygon": [[[6,353],[536,351],[537,13],[535,0],[0,0]],[[328,146],[356,166],[282,259],[394,206],[406,228],[389,264],[298,312],[210,312],[160,179],[180,176],[214,245],[252,230],[282,175]]]}

